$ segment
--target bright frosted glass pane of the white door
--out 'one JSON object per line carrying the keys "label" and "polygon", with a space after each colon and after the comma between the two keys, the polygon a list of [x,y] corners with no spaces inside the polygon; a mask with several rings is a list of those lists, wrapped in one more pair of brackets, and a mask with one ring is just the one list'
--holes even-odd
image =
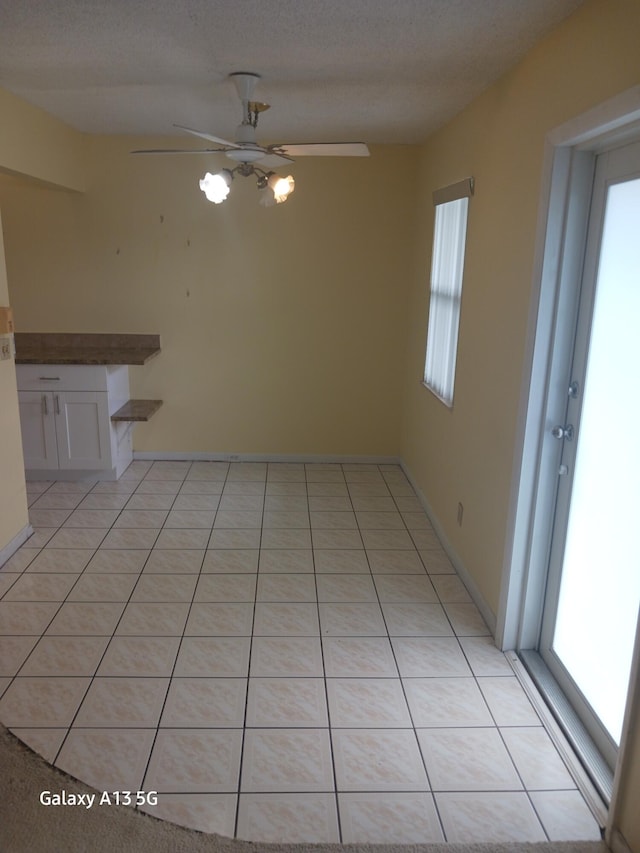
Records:
{"label": "bright frosted glass pane of the white door", "polygon": [[640,602],[640,179],[609,188],[553,649],[620,742]]}

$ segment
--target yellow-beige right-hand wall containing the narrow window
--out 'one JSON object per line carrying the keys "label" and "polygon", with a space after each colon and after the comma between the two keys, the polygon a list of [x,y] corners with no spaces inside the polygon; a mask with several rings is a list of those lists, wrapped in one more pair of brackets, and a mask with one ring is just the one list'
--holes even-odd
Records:
{"label": "yellow-beige right-hand wall containing the narrow window", "polygon": [[[594,0],[424,146],[410,295],[401,456],[484,602],[502,581],[516,418],[532,293],[546,134],[640,83],[640,3]],[[424,365],[434,189],[468,175],[470,203],[453,410],[417,381]],[[456,523],[464,504],[462,527]],[[640,851],[640,736],[630,738],[620,826]]]}

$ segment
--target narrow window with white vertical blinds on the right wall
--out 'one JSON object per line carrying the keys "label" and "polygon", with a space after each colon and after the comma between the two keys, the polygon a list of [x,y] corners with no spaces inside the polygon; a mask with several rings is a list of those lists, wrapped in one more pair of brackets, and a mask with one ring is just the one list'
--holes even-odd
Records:
{"label": "narrow window with white vertical blinds on the right wall", "polygon": [[453,405],[467,209],[472,193],[473,178],[466,178],[433,194],[436,217],[424,384],[447,406]]}

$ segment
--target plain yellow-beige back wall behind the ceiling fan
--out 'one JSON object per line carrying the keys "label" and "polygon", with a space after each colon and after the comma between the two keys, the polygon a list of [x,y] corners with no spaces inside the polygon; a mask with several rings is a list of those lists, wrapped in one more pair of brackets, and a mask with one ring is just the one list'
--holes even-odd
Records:
{"label": "plain yellow-beige back wall behind the ceiling fan", "polygon": [[[215,160],[92,141],[84,194],[5,187],[16,328],[160,333],[136,450],[397,455],[417,151],[299,162],[284,205]],[[224,161],[218,165],[224,165]]]}

